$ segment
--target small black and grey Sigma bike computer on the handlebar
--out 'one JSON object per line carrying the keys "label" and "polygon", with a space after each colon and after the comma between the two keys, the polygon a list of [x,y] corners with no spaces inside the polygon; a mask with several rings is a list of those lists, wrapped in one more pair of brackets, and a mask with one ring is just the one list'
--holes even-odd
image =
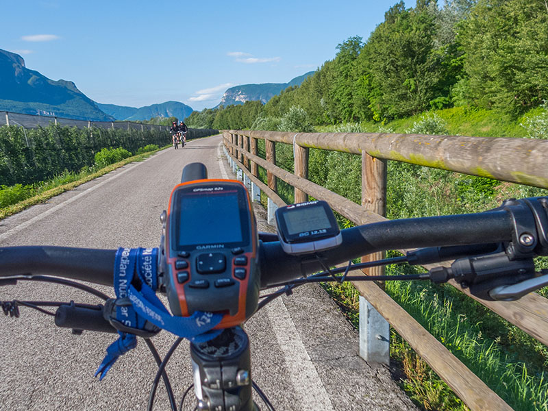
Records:
{"label": "small black and grey Sigma bike computer on the handlebar", "polygon": [[307,201],[276,210],[279,242],[288,254],[306,254],[337,247],[343,238],[325,201]]}

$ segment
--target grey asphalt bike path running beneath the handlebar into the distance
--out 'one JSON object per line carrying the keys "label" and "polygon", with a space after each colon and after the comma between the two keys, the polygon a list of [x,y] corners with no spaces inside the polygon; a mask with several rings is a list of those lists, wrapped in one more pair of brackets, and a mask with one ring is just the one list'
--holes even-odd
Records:
{"label": "grey asphalt bike path running beneath the handlebar into the distance", "polygon": [[[158,247],[160,213],[190,162],[206,164],[209,177],[234,178],[221,136],[192,140],[0,221],[0,246]],[[264,211],[258,206],[256,212],[260,229],[272,231]],[[114,295],[111,288],[97,288]],[[101,302],[73,288],[30,282],[0,288],[0,299]],[[19,319],[0,320],[0,410],[146,409],[157,366],[142,340],[99,382],[93,374],[115,334],[77,336],[55,327],[53,317],[25,308],[21,313]],[[245,329],[253,379],[278,411],[415,409],[386,367],[357,356],[356,330],[319,286],[303,286],[292,297],[273,301]],[[174,340],[160,332],[152,341],[163,356]],[[179,401],[192,383],[188,342],[179,346],[167,372]],[[192,397],[184,410],[194,406]],[[167,409],[160,383],[155,410]]]}

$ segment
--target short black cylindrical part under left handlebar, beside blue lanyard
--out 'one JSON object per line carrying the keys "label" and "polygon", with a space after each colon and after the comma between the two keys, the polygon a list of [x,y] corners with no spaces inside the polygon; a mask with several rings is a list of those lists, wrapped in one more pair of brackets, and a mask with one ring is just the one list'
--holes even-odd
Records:
{"label": "short black cylindrical part under left handlebar, beside blue lanyard", "polygon": [[103,317],[103,306],[77,307],[74,303],[60,306],[55,312],[55,325],[72,329],[116,333],[116,329]]}

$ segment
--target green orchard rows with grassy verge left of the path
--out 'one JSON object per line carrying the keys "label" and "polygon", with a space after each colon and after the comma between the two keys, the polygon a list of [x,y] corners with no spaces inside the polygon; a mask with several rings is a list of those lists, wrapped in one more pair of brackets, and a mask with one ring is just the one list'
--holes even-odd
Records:
{"label": "green orchard rows with grassy verge left of the path", "polygon": [[138,160],[170,140],[169,133],[157,130],[0,127],[0,218],[103,175],[110,164]]}

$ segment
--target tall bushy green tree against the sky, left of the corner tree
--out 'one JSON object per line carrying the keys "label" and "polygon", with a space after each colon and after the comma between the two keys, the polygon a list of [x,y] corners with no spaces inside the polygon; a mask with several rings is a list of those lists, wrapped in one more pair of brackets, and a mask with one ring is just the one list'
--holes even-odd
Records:
{"label": "tall bushy green tree against the sky, left of the corner tree", "polygon": [[442,58],[434,49],[437,27],[428,3],[406,10],[400,1],[390,8],[358,57],[358,78],[370,88],[376,119],[420,113],[443,93]]}

